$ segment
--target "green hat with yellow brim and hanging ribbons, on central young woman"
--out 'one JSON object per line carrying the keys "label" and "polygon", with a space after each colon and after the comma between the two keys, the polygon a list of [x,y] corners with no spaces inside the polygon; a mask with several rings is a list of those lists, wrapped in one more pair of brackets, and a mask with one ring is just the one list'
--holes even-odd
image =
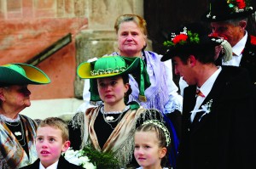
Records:
{"label": "green hat with yellow brim and hanging ribbons, on central young woman", "polygon": [[141,101],[146,101],[145,89],[151,84],[143,59],[137,57],[105,56],[80,64],[77,73],[83,79],[90,79],[90,101],[101,100],[96,85],[97,78],[131,74],[138,83]]}

